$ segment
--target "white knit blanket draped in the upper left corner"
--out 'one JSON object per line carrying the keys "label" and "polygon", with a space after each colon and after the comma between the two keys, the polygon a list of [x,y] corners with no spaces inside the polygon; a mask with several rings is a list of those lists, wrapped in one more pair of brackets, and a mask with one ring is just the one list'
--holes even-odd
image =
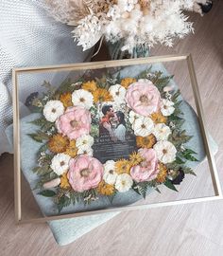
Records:
{"label": "white knit blanket draped in the upper left corner", "polygon": [[[71,28],[50,17],[43,3],[44,0],[0,0],[0,155],[12,152],[5,135],[12,122],[12,67],[78,63],[91,54],[74,44]],[[24,77],[19,84],[21,117],[28,114],[26,97],[40,91],[43,80],[60,83],[66,75]]]}

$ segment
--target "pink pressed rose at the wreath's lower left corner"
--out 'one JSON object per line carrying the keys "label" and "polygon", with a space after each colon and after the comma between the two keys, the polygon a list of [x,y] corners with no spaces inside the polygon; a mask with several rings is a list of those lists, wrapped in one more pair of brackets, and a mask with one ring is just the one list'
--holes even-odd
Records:
{"label": "pink pressed rose at the wreath's lower left corner", "polygon": [[96,188],[102,179],[103,165],[94,157],[79,155],[69,162],[67,177],[76,192]]}

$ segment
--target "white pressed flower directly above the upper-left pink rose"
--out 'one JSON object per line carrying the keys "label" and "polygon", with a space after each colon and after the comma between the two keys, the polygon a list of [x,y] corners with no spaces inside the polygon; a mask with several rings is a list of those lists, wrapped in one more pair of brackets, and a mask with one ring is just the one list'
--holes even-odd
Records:
{"label": "white pressed flower directly above the upper-left pink rose", "polygon": [[72,102],[74,106],[83,106],[90,109],[93,106],[93,95],[83,89],[76,90],[72,93]]}

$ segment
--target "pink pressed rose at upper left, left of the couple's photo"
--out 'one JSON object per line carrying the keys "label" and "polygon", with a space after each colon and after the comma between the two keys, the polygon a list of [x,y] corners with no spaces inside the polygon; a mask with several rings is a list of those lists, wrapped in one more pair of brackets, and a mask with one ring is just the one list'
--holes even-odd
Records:
{"label": "pink pressed rose at upper left, left of the couple's photo", "polygon": [[56,121],[59,132],[70,139],[88,135],[91,130],[91,113],[81,107],[71,107]]}

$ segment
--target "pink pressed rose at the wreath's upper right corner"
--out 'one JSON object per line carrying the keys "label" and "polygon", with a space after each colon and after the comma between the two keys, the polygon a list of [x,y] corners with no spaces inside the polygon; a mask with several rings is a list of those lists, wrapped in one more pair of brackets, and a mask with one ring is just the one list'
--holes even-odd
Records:
{"label": "pink pressed rose at the wreath's upper right corner", "polygon": [[161,94],[157,87],[150,81],[133,82],[127,91],[126,101],[135,113],[149,116],[161,108]]}

